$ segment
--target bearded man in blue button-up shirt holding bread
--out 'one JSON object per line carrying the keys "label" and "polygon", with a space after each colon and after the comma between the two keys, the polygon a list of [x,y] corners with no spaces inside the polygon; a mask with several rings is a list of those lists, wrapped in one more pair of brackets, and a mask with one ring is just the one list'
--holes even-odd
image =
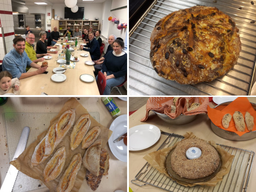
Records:
{"label": "bearded man in blue button-up shirt holding bread", "polygon": [[[7,53],[3,59],[3,71],[9,71],[12,78],[24,79],[46,71],[47,67],[41,67],[32,62],[25,50],[25,39],[17,36],[13,39],[14,49]],[[26,67],[37,68],[37,71],[26,72]]]}

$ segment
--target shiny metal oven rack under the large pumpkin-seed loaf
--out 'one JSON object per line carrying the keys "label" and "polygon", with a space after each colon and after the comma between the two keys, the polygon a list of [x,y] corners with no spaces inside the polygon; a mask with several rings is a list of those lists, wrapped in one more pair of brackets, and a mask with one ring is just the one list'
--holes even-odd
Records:
{"label": "shiny metal oven rack under the large pumpkin-seed loaf", "polygon": [[[214,3],[216,2],[216,3]],[[256,1],[155,0],[129,33],[129,95],[250,95],[256,81]],[[155,73],[150,61],[150,35],[155,24],[173,11],[195,5],[217,7],[239,28],[242,50],[237,65],[211,82],[181,85]]]}

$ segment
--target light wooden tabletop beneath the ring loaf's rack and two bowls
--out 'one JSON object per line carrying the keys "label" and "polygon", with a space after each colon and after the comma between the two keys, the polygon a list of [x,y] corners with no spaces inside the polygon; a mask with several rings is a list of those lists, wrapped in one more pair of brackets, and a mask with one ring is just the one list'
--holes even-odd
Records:
{"label": "light wooden tabletop beneath the ring loaf's rack and two bowls", "polygon": [[[256,97],[249,97],[249,101],[256,103]],[[211,107],[216,106],[213,102],[209,104]],[[207,141],[215,141],[218,144],[237,147],[240,149],[245,149],[249,151],[256,152],[256,138],[251,139],[248,141],[230,141],[224,138],[221,138],[213,133],[210,127],[210,119],[208,115],[199,114],[197,118],[185,125],[171,125],[161,121],[152,111],[149,112],[149,118],[145,122],[141,122],[142,119],[146,114],[146,105],[141,107],[138,111],[134,112],[132,115],[129,116],[129,128],[137,125],[142,124],[152,124],[157,126],[161,131],[165,131],[168,133],[175,133],[178,135],[184,135],[187,131],[191,131],[195,136],[207,140]],[[156,192],[156,191],[163,191],[158,189],[154,186],[145,185],[139,187],[131,183],[131,180],[137,175],[137,173],[141,170],[141,168],[145,165],[146,160],[143,157],[150,153],[157,151],[160,145],[165,141],[167,136],[162,135],[160,139],[151,147],[141,150],[141,151],[129,151],[129,179],[128,185],[133,190],[133,192]],[[247,191],[252,192],[255,188],[254,178],[256,178],[256,163],[252,164],[251,175],[247,186]],[[143,182],[136,182],[139,185],[143,185]]]}

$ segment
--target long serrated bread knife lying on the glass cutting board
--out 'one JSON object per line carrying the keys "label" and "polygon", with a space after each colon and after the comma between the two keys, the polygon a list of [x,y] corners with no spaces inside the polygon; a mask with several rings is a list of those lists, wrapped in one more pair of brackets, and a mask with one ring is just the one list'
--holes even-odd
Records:
{"label": "long serrated bread knife lying on the glass cutting board", "polygon": [[[20,155],[21,153],[25,150],[26,148],[26,144],[27,144],[27,138],[28,138],[28,135],[29,135],[29,127],[28,126],[25,126],[23,128],[23,131],[21,133],[21,138],[20,138],[20,141],[18,143],[18,146],[16,148],[16,152],[14,153],[14,156],[13,156],[13,160],[16,160]],[[12,188],[14,186],[14,183],[16,181],[16,177],[18,175],[18,172],[19,170],[16,169],[16,167],[14,167],[13,165],[10,165],[10,168],[8,169],[8,172],[5,176],[5,180],[3,182],[3,185],[0,189],[0,192],[11,192],[12,191]]]}

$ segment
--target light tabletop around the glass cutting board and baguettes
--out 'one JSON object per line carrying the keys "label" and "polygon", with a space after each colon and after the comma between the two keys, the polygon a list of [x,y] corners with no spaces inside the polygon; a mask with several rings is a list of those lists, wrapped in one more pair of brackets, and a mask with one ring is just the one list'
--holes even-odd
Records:
{"label": "light tabletop around the glass cutting board and baguettes", "polygon": [[[65,102],[70,97],[9,97],[8,101],[0,106],[0,186],[2,185],[5,175],[9,169],[9,153],[6,138],[5,113],[59,113]],[[100,123],[102,126],[109,128],[114,121],[111,114],[107,111],[101,101],[101,97],[75,97],[79,103],[85,107],[88,112],[99,113]],[[127,114],[127,102],[114,97],[117,106],[121,110],[122,115]],[[50,119],[49,119],[50,121]],[[23,129],[19,127],[17,129]],[[41,131],[41,130],[40,130]],[[41,132],[45,131],[42,129]],[[106,147],[109,159],[109,172],[107,176],[103,176],[101,184],[97,191],[127,190],[127,162],[118,160],[112,154],[108,144]],[[118,182],[117,182],[118,181]],[[83,192],[87,183],[84,180],[79,192]],[[48,192],[48,188],[38,187],[34,192]],[[91,190],[92,191],[92,190]]]}

